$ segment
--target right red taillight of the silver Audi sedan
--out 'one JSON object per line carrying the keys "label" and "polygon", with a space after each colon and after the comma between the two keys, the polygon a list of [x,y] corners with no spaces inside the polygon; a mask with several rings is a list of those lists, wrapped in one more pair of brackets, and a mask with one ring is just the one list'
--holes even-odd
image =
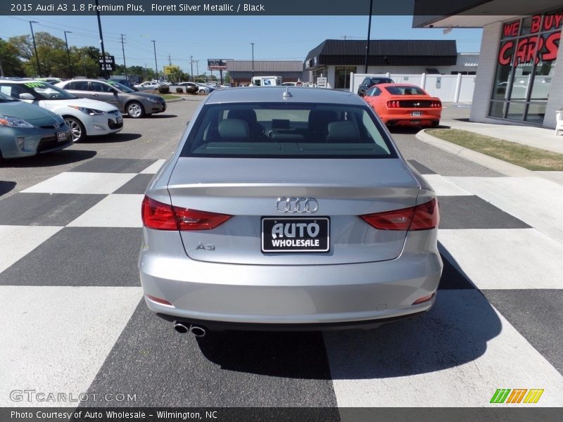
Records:
{"label": "right red taillight of the silver Audi sedan", "polygon": [[415,207],[360,215],[360,217],[379,230],[429,230],[437,227],[440,222],[436,198]]}

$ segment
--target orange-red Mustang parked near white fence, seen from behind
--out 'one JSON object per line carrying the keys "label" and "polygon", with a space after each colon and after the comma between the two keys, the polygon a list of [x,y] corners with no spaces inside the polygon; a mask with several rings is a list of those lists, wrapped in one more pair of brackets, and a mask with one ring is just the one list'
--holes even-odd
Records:
{"label": "orange-red Mustang parked near white fence, seen from behind", "polygon": [[387,126],[438,126],[442,102],[409,84],[378,84],[363,97]]}

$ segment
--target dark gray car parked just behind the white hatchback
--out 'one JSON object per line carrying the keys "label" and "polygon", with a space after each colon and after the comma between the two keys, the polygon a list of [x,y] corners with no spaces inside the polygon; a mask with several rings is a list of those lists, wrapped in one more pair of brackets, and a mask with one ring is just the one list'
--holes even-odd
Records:
{"label": "dark gray car parked just behind the white hatchback", "polygon": [[60,82],[56,86],[78,97],[110,103],[121,113],[134,119],[166,110],[166,102],[161,96],[134,91],[119,82],[103,79],[72,79]]}

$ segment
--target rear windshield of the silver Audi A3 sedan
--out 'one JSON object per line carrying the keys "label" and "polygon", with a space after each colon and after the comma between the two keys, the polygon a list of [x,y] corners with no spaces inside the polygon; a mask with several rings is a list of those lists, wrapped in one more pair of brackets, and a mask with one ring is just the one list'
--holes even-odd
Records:
{"label": "rear windshield of the silver Audi A3 sedan", "polygon": [[369,108],[296,103],[205,106],[182,156],[396,158]]}

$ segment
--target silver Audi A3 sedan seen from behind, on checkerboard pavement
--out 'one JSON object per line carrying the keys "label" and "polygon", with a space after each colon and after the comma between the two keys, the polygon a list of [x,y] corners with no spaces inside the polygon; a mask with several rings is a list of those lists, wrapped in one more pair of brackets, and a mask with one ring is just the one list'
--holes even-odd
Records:
{"label": "silver Audi A3 sedan seen from behind, on checkerboard pavement", "polygon": [[365,328],[434,304],[436,193],[352,93],[213,92],[141,213],[146,304],[180,333]]}

